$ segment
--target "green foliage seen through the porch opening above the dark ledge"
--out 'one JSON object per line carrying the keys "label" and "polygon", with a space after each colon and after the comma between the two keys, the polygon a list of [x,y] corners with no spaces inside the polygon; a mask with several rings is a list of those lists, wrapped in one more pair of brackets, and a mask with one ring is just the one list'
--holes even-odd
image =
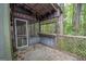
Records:
{"label": "green foliage seen through the porch opening above the dark ledge", "polygon": [[44,33],[44,34],[54,34],[56,33],[56,18],[42,22],[41,23],[41,33]]}

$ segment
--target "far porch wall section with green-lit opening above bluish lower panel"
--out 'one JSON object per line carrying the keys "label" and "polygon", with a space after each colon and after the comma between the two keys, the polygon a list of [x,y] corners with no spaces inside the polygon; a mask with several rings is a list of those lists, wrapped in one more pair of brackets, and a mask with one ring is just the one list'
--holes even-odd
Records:
{"label": "far porch wall section with green-lit opening above bluish lower panel", "polygon": [[[57,35],[57,18],[47,20],[40,23],[40,43],[56,48],[56,36]],[[45,25],[45,26],[44,26]]]}

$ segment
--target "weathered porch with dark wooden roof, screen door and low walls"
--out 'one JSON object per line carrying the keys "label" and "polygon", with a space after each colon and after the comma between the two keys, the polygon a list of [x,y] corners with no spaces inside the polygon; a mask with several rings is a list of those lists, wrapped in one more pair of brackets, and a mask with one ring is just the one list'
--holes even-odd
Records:
{"label": "weathered porch with dark wooden roof, screen door and low walls", "polygon": [[[79,40],[63,35],[63,12],[58,3],[14,3],[11,9],[13,60],[84,60]],[[85,51],[85,50],[84,50]]]}

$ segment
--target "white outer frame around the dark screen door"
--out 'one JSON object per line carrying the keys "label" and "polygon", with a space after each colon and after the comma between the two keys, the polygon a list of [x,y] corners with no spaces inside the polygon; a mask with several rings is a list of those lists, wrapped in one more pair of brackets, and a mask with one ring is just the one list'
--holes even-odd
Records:
{"label": "white outer frame around the dark screen door", "polygon": [[[17,47],[17,28],[16,28],[16,21],[22,21],[26,23],[26,40],[27,40],[27,44],[26,46],[22,46],[22,47]],[[28,24],[27,24],[27,20],[22,20],[22,18],[14,18],[14,27],[15,27],[15,43],[16,43],[16,49],[21,49],[24,47],[28,47]]]}

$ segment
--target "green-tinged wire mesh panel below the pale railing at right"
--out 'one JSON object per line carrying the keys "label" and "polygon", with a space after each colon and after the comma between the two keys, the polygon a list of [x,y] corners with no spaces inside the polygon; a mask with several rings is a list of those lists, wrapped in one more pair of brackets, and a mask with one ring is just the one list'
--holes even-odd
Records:
{"label": "green-tinged wire mesh panel below the pale railing at right", "polygon": [[81,60],[86,60],[86,37],[58,36],[58,48],[76,54]]}

